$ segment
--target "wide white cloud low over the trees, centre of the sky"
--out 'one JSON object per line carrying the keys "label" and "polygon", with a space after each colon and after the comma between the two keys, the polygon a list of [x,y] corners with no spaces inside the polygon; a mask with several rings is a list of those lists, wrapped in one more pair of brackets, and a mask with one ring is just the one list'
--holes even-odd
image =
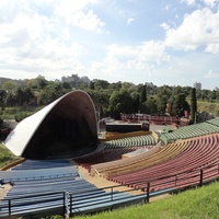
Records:
{"label": "wide white cloud low over the trees, centre of the sky", "polygon": [[106,47],[106,56],[103,61],[94,61],[88,72],[91,78],[108,79],[110,81],[131,81],[132,74],[136,80],[142,77],[151,77],[157,66],[169,61],[169,55],[164,51],[162,42],[145,42],[141,45],[117,45]]}

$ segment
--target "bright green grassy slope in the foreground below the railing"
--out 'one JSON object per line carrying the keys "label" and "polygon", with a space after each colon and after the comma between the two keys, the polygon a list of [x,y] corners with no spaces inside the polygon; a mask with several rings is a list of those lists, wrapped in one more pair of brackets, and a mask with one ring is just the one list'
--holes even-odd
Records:
{"label": "bright green grassy slope in the foreground below the railing", "polygon": [[[55,218],[55,217],[54,217]],[[74,219],[218,219],[219,183],[173,195],[149,205],[132,206]]]}

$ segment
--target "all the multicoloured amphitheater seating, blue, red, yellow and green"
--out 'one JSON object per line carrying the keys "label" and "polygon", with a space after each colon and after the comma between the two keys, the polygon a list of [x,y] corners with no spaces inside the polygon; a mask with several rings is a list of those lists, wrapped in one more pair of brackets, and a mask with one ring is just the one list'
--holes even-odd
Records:
{"label": "all the multicoloured amphitheater seating, blue, red, yellow and green", "polygon": [[[219,177],[219,118],[178,128],[162,134],[168,142],[155,153],[123,159],[122,154],[139,147],[151,147],[157,142],[153,136],[138,136],[104,143],[104,150],[74,159],[88,170],[97,163],[113,161],[113,165],[102,170],[107,180],[129,186],[130,189],[150,191],[150,197],[172,192],[200,182]],[[130,195],[105,188],[97,188],[83,180],[77,166],[68,160],[31,161],[0,172],[0,183],[11,183],[12,189],[0,203],[0,218],[9,214],[11,200],[12,216],[32,217],[34,214],[62,214],[64,201],[67,212],[92,212],[108,209],[115,205],[146,199],[147,194]],[[150,187],[147,187],[150,182]],[[70,199],[72,205],[70,206]],[[37,217],[36,215],[34,216]]]}

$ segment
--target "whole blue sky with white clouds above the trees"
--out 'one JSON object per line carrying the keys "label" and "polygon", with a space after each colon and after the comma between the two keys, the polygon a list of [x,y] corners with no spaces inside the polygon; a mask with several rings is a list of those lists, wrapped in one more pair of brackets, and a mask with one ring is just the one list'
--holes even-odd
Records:
{"label": "whole blue sky with white clouds above the trees", "polygon": [[0,0],[0,77],[219,87],[219,0]]}

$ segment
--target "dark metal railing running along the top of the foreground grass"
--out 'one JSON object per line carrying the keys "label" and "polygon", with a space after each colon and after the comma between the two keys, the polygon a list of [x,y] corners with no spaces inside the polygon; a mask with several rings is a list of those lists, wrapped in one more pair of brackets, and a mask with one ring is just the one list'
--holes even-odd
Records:
{"label": "dark metal railing running along the top of the foreground grass", "polygon": [[[34,215],[35,211],[37,211],[37,214],[44,214],[44,216],[57,214],[65,217],[66,215],[73,216],[76,214],[83,214],[92,210],[97,211],[100,208],[112,209],[117,205],[127,204],[127,201],[149,203],[151,197],[161,194],[175,193],[194,186],[203,186],[204,184],[216,180],[219,180],[219,163],[199,170],[180,173],[177,175],[145,181],[146,186],[140,188],[139,195],[131,195],[131,192],[136,192],[136,188],[131,188],[130,184],[125,184],[76,193],[60,191],[13,197],[10,199],[4,198],[0,203],[0,218],[2,216],[10,218],[13,215]],[[123,189],[119,189],[122,186]],[[118,191],[123,192],[118,193]],[[91,194],[94,199],[89,200]],[[30,206],[23,208],[22,206],[25,206],[24,204]]]}

